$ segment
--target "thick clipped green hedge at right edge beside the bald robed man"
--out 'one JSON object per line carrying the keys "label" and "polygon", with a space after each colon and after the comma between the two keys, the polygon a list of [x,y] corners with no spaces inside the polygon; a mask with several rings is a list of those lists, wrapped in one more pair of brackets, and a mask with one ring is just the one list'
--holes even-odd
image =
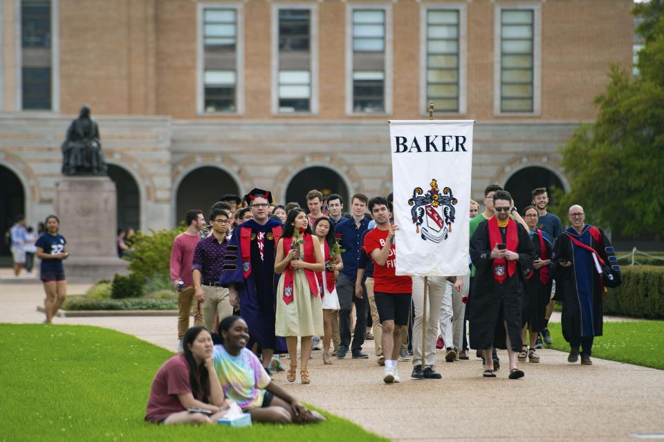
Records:
{"label": "thick clipped green hedge at right edge beside the bald robed man", "polygon": [[608,289],[605,314],[664,318],[664,267],[638,265],[620,267],[623,284]]}

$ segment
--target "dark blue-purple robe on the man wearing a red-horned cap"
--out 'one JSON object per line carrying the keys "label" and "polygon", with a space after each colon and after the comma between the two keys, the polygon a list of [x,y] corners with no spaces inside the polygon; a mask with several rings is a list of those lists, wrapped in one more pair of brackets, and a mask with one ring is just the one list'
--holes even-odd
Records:
{"label": "dark blue-purple robe on the man wearing a red-horned cap", "polygon": [[[249,327],[251,349],[258,343],[259,349],[274,349],[275,353],[286,353],[286,341],[275,336],[277,315],[277,283],[279,275],[275,274],[275,253],[277,244],[273,236],[273,227],[282,223],[268,219],[264,226],[254,220],[243,222],[233,231],[232,238],[226,249],[221,273],[221,285],[235,285],[240,300],[240,316]],[[251,228],[250,265],[251,274],[244,277],[243,256],[241,248],[241,229]],[[263,250],[259,249],[262,238]]]}

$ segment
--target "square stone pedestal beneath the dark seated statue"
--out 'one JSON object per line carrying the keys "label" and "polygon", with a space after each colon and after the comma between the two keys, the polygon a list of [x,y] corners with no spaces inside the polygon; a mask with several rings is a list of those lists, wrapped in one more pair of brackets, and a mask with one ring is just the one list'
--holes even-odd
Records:
{"label": "square stone pedestal beneath the dark seated statue", "polygon": [[116,184],[106,176],[64,177],[55,184],[55,214],[59,232],[71,256],[63,262],[71,282],[97,282],[127,274],[127,261],[118,258]]}

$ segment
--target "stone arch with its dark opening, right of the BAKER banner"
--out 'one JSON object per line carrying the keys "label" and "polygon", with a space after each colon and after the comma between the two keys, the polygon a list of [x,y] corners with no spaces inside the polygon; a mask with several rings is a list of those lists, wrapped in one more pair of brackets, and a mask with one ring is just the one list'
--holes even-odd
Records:
{"label": "stone arch with its dark opening, right of the BAKER banner", "polygon": [[[535,173],[537,169],[544,171],[544,173]],[[518,184],[518,182],[515,183],[515,179],[518,179],[519,175],[525,173],[531,175],[528,180],[527,189],[524,186],[517,186],[515,188],[515,185]],[[504,186],[506,190],[511,191],[514,194],[515,204],[519,208],[524,206],[524,204],[530,204],[531,191],[535,187],[549,188],[556,186],[562,188],[563,191],[569,191],[569,180],[562,173],[560,163],[555,159],[551,159],[548,155],[524,155],[517,157],[505,164],[499,173],[495,175],[495,179],[492,182],[497,182],[501,186]]]}

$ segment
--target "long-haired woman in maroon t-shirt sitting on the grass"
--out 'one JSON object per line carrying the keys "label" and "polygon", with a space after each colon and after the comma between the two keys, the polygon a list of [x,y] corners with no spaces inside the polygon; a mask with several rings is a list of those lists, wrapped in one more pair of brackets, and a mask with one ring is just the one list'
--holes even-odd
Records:
{"label": "long-haired woman in maroon t-shirt sitting on the grass", "polygon": [[[176,354],[154,376],[145,420],[153,423],[216,423],[226,410],[223,390],[214,371],[212,336],[192,327],[183,338],[184,354]],[[188,408],[209,410],[190,412]]]}

